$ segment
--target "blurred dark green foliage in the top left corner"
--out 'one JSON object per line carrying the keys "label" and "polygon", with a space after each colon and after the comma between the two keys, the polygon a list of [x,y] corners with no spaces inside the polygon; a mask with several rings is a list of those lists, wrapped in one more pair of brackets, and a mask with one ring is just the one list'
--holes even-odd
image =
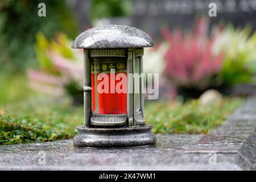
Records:
{"label": "blurred dark green foliage in the top left corner", "polygon": [[33,44],[36,32],[42,31],[53,38],[61,31],[71,38],[78,33],[73,14],[61,0],[45,0],[46,17],[38,16],[39,0],[0,1],[0,69],[24,71],[27,65],[35,66]]}

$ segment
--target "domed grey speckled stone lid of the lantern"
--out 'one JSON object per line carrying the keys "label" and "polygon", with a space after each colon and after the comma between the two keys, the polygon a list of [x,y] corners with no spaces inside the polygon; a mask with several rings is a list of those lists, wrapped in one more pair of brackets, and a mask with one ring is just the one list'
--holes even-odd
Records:
{"label": "domed grey speckled stone lid of the lantern", "polygon": [[126,25],[110,24],[90,28],[74,40],[72,48],[139,48],[153,47],[152,38],[144,31]]}

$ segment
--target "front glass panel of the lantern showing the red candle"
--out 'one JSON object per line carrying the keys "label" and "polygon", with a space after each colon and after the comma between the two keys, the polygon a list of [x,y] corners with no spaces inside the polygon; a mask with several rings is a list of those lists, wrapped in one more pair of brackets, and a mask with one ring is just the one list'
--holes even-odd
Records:
{"label": "front glass panel of the lantern showing the red candle", "polygon": [[[126,60],[126,57],[92,57],[93,114],[127,114],[127,81],[126,79],[122,80],[123,77],[120,80],[116,79],[119,73],[127,76]],[[114,71],[114,73],[110,71]],[[118,93],[117,85],[125,92]]]}

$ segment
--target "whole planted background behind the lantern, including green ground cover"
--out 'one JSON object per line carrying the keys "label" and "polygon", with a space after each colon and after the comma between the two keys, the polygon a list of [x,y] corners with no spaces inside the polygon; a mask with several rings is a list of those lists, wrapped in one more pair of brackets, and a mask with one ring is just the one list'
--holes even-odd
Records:
{"label": "whole planted background behind the lantern, including green ground cover", "polygon": [[256,0],[1,0],[0,144],[76,134],[83,55],[71,44],[105,24],[155,41],[143,57],[144,72],[160,74],[159,100],[145,102],[153,132],[205,134],[241,104],[237,96],[256,93],[255,17]]}

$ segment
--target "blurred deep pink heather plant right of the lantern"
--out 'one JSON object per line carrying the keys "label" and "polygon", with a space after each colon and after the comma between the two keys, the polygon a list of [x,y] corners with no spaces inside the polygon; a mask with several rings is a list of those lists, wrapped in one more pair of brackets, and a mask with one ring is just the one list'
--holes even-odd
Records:
{"label": "blurred deep pink heather plant right of the lantern", "polygon": [[215,36],[208,38],[208,20],[198,19],[192,32],[172,33],[164,28],[162,35],[170,45],[164,55],[164,73],[177,86],[205,89],[219,84],[214,76],[222,68],[222,53],[213,54]]}

